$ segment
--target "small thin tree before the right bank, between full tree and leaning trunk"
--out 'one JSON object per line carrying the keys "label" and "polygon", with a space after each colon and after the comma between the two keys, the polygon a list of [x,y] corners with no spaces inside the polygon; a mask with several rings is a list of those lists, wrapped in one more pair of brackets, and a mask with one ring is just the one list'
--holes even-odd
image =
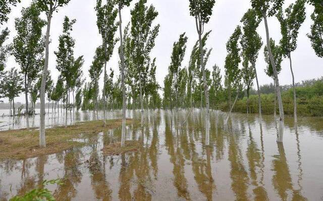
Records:
{"label": "small thin tree before the right bank, between full tree and leaning trunk", "polygon": [[251,66],[249,65],[248,58],[244,54],[242,55],[242,57],[243,57],[243,62],[242,62],[243,67],[242,67],[241,73],[242,73],[244,84],[247,86],[247,114],[249,114],[250,113],[249,94],[250,94],[250,88],[253,85],[255,71],[254,71],[254,67],[252,65]]}

